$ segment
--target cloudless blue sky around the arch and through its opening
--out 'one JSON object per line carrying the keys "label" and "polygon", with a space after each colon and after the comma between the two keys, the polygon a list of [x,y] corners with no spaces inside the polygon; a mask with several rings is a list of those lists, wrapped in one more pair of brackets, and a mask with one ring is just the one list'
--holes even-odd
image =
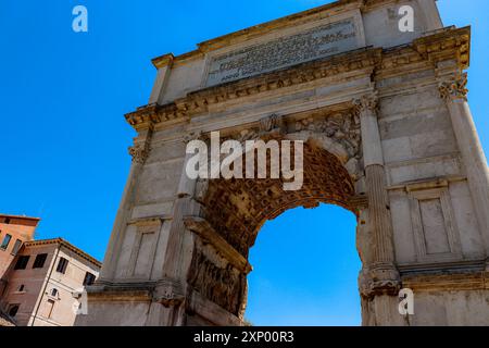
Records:
{"label": "cloudless blue sky around the arch and through its opening", "polygon": [[[330,1],[2,0],[0,212],[42,217],[38,238],[62,236],[103,258],[135,136],[123,115],[146,104],[150,60]],[[469,101],[486,152],[489,1],[439,0],[446,25],[473,25]],[[89,33],[72,30],[72,9]],[[354,216],[297,209],[267,223],[251,251],[254,324],[358,325]]]}

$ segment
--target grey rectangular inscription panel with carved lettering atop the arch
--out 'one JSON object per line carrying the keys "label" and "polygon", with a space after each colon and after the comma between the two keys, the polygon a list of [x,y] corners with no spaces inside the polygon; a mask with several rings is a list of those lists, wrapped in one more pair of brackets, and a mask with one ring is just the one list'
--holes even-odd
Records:
{"label": "grey rectangular inscription panel with carved lettering atop the arch", "polygon": [[353,18],[213,58],[205,86],[260,75],[359,48]]}

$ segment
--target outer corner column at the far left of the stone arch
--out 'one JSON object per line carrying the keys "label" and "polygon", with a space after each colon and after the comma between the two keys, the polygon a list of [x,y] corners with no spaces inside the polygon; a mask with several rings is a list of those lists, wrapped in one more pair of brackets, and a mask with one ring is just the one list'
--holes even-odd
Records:
{"label": "outer corner column at the far left of the stone arch", "polygon": [[112,227],[111,238],[105,251],[98,283],[112,282],[114,279],[122,244],[126,235],[127,223],[130,219],[130,213],[134,207],[137,183],[150,151],[151,137],[151,128],[141,130],[139,136],[135,138],[134,146],[129,148],[129,154],[133,157],[133,163],[130,165],[129,176],[127,178],[114,225]]}

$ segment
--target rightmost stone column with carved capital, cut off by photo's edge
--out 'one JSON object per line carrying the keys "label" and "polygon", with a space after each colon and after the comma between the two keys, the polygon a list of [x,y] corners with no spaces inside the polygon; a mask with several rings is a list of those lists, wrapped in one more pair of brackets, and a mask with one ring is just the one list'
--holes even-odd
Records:
{"label": "rightmost stone column with carved capital, cut off by photo's edge", "polygon": [[440,82],[439,90],[452,121],[453,130],[465,164],[468,187],[488,257],[489,270],[489,170],[479,136],[467,103],[467,74],[455,74]]}

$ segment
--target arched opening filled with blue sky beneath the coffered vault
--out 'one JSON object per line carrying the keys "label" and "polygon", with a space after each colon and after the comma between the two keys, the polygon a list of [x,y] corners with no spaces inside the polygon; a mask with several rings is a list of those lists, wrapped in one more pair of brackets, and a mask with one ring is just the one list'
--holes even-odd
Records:
{"label": "arched opening filled with blue sky beneath the coffered vault", "polygon": [[250,250],[246,323],[360,325],[355,226],[350,211],[323,203],[266,222]]}

